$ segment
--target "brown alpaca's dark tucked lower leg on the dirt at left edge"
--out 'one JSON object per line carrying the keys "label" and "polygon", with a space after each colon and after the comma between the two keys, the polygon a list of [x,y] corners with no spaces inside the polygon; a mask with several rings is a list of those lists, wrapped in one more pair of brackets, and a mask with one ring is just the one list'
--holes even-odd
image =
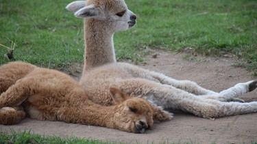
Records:
{"label": "brown alpaca's dark tucked lower leg on the dirt at left edge", "polygon": [[12,125],[19,124],[19,122],[25,117],[25,112],[22,110],[16,110],[12,107],[3,107],[0,109],[0,124]]}

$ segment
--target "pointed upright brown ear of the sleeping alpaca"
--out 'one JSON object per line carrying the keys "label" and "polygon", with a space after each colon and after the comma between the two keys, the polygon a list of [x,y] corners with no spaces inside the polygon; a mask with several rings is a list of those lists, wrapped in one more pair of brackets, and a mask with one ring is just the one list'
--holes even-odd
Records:
{"label": "pointed upright brown ear of the sleeping alpaca", "polygon": [[121,104],[121,102],[124,102],[128,98],[128,96],[115,87],[110,87],[110,93],[112,94],[114,104]]}

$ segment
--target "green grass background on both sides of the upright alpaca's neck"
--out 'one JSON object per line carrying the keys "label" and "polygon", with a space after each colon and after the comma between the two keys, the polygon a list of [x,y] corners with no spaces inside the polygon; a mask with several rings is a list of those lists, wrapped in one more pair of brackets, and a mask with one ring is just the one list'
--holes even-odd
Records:
{"label": "green grass background on both sides of the upright alpaca's neck", "polygon": [[[83,22],[65,6],[68,0],[0,0],[0,44],[15,60],[47,68],[82,63]],[[117,59],[142,61],[149,48],[201,55],[234,55],[257,75],[255,0],[127,0],[138,24],[114,35]],[[154,4],[153,4],[154,3]],[[0,64],[10,61],[0,46]]]}

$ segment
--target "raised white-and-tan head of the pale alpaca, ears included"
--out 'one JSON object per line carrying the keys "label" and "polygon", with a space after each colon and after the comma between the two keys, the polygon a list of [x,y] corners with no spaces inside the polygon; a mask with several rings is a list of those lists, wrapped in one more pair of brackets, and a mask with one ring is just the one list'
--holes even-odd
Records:
{"label": "raised white-and-tan head of the pale alpaca, ears included", "polygon": [[136,24],[136,15],[127,9],[124,0],[73,1],[66,9],[112,32],[125,31]]}

